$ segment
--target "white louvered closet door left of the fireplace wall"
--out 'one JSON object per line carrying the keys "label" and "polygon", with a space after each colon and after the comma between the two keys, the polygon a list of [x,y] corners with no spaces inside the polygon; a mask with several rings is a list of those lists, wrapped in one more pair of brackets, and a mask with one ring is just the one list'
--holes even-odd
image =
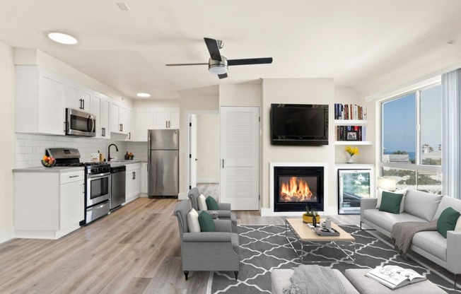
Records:
{"label": "white louvered closet door left of the fireplace wall", "polygon": [[259,210],[259,107],[221,107],[221,202]]}

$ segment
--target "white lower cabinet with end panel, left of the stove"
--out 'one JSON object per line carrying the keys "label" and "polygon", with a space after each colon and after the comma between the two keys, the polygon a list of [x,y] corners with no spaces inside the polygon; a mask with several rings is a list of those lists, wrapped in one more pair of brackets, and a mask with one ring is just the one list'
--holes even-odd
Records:
{"label": "white lower cabinet with end panel, left of the stove", "polygon": [[72,172],[15,172],[16,237],[58,239],[85,218],[85,175]]}

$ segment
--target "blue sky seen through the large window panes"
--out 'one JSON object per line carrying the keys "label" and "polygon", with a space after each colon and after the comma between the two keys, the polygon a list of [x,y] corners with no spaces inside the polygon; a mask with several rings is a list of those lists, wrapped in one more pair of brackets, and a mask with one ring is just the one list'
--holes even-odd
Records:
{"label": "blue sky seen through the large window panes", "polygon": [[[416,151],[416,95],[383,104],[383,147],[386,152]],[[440,135],[440,86],[421,93],[421,144],[438,150]]]}

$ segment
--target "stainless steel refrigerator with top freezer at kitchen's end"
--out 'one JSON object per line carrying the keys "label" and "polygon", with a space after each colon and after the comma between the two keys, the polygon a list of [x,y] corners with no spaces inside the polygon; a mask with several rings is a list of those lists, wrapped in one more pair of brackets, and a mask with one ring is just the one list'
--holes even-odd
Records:
{"label": "stainless steel refrigerator with top freezer at kitchen's end", "polygon": [[177,198],[180,130],[150,129],[147,135],[148,196]]}

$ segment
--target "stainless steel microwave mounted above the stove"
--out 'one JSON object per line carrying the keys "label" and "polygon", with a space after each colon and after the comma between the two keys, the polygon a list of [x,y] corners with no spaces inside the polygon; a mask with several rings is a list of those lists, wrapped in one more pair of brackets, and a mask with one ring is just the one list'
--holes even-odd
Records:
{"label": "stainless steel microwave mounted above the stove", "polygon": [[66,135],[94,137],[96,129],[95,115],[66,108]]}

